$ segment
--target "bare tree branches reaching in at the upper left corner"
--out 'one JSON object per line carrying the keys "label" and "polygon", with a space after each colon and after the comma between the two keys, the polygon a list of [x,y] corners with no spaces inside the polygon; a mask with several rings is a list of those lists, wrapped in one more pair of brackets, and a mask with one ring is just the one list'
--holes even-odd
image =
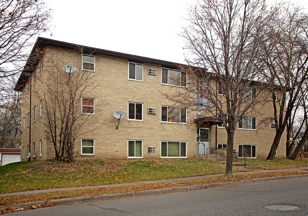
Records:
{"label": "bare tree branches reaching in at the upper left corner", "polygon": [[48,30],[50,18],[41,0],[0,0],[0,99],[12,94],[8,77],[21,71],[34,37]]}

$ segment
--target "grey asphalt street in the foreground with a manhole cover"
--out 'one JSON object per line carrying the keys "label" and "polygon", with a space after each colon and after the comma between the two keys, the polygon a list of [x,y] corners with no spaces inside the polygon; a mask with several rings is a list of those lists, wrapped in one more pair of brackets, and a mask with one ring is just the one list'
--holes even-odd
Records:
{"label": "grey asphalt street in the foreground with a manhole cover", "polygon": [[[52,206],[9,215],[308,215],[308,178]],[[268,205],[298,206],[269,210]]]}

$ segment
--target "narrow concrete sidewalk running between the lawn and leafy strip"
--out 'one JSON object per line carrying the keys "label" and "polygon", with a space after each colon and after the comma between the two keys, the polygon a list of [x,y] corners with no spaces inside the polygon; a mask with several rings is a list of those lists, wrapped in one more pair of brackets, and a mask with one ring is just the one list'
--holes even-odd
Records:
{"label": "narrow concrete sidewalk running between the lawn and leafy strip", "polygon": [[[263,173],[263,172],[278,172],[278,171],[306,171],[308,173],[308,170],[305,170],[305,169],[308,169],[308,166],[287,168],[287,169],[282,169],[282,170],[254,170],[254,171],[233,173],[233,175],[253,174],[253,173]],[[104,188],[104,187],[132,186],[132,185],[151,184],[151,183],[158,183],[158,182],[175,182],[175,181],[211,178],[211,177],[217,177],[217,176],[222,176],[222,175],[224,174],[212,174],[212,175],[202,175],[202,176],[172,178],[172,179],[162,179],[162,180],[152,180],[152,181],[141,181],[141,182],[128,182],[128,183],[111,184],[111,185],[96,185],[96,186],[83,186],[83,187],[51,188],[51,189],[43,189],[43,190],[29,190],[29,191],[20,191],[20,192],[0,194],[0,197],[15,196],[15,195],[21,195],[21,194],[47,193],[47,192],[62,191],[62,190],[79,190],[79,189],[92,189],[92,188]]]}

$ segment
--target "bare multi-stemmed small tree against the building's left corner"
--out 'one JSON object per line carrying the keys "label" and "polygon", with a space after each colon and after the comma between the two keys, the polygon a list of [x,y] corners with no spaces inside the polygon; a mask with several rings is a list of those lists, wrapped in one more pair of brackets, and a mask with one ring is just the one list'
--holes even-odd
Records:
{"label": "bare multi-stemmed small tree against the building's left corner", "polygon": [[[43,66],[45,79],[36,77],[41,85],[33,93],[42,99],[45,117],[42,123],[46,127],[46,139],[55,151],[55,159],[72,162],[77,156],[76,139],[103,126],[104,122],[95,122],[97,118],[92,114],[103,113],[105,100],[97,92],[96,98],[91,98],[94,95],[91,92],[100,84],[97,74],[84,70],[85,65],[66,55],[48,53],[48,50],[45,55],[48,56]],[[41,91],[42,85],[44,91]]]}

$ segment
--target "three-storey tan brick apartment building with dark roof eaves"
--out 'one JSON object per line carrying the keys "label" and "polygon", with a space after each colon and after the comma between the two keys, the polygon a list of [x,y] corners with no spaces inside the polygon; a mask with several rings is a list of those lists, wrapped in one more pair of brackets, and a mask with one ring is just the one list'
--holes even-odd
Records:
{"label": "three-storey tan brick apartment building with dark roof eaves", "polygon": [[[227,134],[219,122],[193,124],[188,128],[187,119],[198,114],[187,116],[186,109],[172,106],[161,94],[178,88],[166,78],[168,74],[181,74],[174,62],[92,47],[82,47],[80,51],[80,47],[46,38],[38,38],[34,45],[15,86],[15,90],[22,92],[22,161],[29,157],[31,160],[54,157],[54,149],[46,140],[42,100],[48,94],[46,85],[52,84],[51,72],[57,68],[65,74],[64,65],[80,67],[81,71],[87,69],[93,78],[89,84],[91,90],[80,103],[80,112],[86,113],[92,123],[83,126],[82,135],[75,142],[77,159],[187,158],[204,152],[203,145],[197,148],[197,142],[209,147],[226,147]],[[42,59],[35,55],[38,49],[44,50]],[[216,83],[214,79],[210,82]],[[270,92],[268,95],[270,100]],[[270,103],[260,109],[268,117],[273,114]],[[118,129],[118,120],[113,116],[117,110],[125,113]],[[180,114],[174,118],[173,112]],[[243,118],[249,124],[241,124],[235,131],[235,150],[246,153],[246,158],[266,158],[275,130],[271,124],[258,128],[257,122],[264,116]],[[102,122],[103,126],[94,130]],[[279,158],[285,157],[283,143],[282,139],[277,150]]]}

